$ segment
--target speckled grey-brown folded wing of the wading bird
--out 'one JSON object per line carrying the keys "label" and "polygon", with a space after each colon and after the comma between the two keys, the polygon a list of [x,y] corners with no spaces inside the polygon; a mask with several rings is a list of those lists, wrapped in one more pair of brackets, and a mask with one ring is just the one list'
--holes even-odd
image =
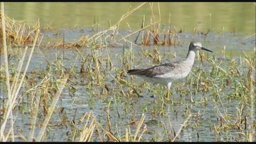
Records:
{"label": "speckled grey-brown folded wing of the wading bird", "polygon": [[171,63],[166,63],[166,64],[160,64],[156,66],[152,66],[150,68],[145,68],[145,69],[133,69],[133,70],[128,70],[129,75],[139,75],[139,76],[146,76],[146,77],[154,77],[157,75],[163,75],[166,74],[177,66],[176,62],[171,62]]}

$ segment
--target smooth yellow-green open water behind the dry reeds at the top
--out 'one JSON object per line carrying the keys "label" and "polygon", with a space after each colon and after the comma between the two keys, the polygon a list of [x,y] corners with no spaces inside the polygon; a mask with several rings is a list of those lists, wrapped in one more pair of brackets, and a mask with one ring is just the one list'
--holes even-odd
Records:
{"label": "smooth yellow-green open water behind the dry reeds at the top", "polygon": [[[108,29],[109,21],[116,24],[129,10],[142,2],[5,2],[5,13],[15,20],[26,20],[34,25],[40,18],[41,26],[51,24],[54,28],[91,28],[98,18],[98,28]],[[130,8],[131,6],[131,8]],[[170,25],[191,32],[199,31],[255,33],[255,5],[253,2],[160,2],[161,27]],[[158,3],[153,3],[155,21],[159,20]],[[210,20],[211,14],[211,20]],[[140,7],[120,23],[121,30],[138,30],[145,15],[145,26],[150,23],[149,3]],[[128,24],[129,26],[128,26]],[[97,24],[95,24],[97,25]],[[164,26],[165,25],[165,26]],[[96,30],[96,26],[94,26]]]}

